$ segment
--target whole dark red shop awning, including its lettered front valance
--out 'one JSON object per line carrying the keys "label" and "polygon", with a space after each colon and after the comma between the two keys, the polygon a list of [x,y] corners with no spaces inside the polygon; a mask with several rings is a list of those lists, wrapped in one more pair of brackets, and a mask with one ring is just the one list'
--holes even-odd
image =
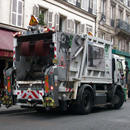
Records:
{"label": "whole dark red shop awning, including its lettered front valance", "polygon": [[13,57],[13,32],[0,29],[0,56]]}

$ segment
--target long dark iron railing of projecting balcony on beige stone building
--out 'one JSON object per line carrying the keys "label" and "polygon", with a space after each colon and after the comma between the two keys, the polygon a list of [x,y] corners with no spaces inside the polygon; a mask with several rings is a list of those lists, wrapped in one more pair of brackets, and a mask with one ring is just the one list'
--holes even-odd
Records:
{"label": "long dark iron railing of projecting balcony on beige stone building", "polygon": [[130,24],[128,24],[127,22],[125,22],[121,19],[117,19],[116,28],[119,28],[123,31],[130,33]]}

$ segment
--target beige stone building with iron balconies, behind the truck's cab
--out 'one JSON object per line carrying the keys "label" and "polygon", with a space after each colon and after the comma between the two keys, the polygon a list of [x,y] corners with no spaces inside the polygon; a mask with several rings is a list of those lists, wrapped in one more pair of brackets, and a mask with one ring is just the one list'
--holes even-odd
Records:
{"label": "beige stone building with iron balconies, behind the truck's cab", "polygon": [[[130,67],[130,1],[98,0],[96,36],[113,42],[114,54]],[[125,70],[125,64],[123,64]]]}

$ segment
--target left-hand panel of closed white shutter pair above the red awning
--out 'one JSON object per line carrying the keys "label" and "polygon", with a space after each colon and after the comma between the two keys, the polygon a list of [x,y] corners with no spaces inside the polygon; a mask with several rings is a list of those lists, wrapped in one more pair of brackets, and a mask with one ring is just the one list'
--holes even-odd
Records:
{"label": "left-hand panel of closed white shutter pair above the red awning", "polygon": [[17,0],[12,1],[12,24],[16,25],[16,16],[17,16]]}

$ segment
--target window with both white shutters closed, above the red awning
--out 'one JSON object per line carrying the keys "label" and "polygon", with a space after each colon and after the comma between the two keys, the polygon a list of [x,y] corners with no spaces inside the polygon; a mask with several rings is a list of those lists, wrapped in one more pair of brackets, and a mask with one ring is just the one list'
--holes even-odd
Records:
{"label": "window with both white shutters closed, above the red awning", "polygon": [[23,0],[12,0],[11,24],[22,27]]}

